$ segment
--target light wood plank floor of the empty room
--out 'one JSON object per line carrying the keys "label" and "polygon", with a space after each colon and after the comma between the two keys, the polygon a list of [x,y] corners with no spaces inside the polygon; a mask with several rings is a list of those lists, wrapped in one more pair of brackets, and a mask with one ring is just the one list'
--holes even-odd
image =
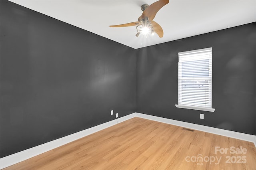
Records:
{"label": "light wood plank floor of the empty room", "polygon": [[[228,151],[215,154],[215,146]],[[231,154],[232,146],[247,152]],[[256,148],[252,142],[136,117],[5,168],[31,169],[256,170]]]}

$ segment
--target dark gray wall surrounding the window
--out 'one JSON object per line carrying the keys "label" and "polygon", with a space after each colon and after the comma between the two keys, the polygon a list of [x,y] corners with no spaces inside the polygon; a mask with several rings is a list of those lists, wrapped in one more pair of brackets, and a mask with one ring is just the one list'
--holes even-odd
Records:
{"label": "dark gray wall surrounding the window", "polygon": [[[212,47],[216,111],[176,108],[178,52],[206,47]],[[139,49],[136,64],[137,112],[256,134],[256,22]]]}

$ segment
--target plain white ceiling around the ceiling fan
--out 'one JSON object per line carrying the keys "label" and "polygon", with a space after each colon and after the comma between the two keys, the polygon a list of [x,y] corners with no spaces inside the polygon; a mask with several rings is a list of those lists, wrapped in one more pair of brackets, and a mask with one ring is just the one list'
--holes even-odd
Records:
{"label": "plain white ceiling around the ceiling fan", "polygon": [[164,37],[137,38],[136,26],[108,26],[138,21],[140,6],[156,0],[10,1],[135,49],[256,22],[256,0],[170,0],[154,18]]}

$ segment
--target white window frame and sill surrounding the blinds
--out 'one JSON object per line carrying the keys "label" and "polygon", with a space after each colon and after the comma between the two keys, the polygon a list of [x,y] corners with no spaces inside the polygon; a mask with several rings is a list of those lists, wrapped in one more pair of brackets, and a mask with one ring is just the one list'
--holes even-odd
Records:
{"label": "white window frame and sill surrounding the blinds", "polygon": [[[195,77],[192,77],[192,78],[184,78],[182,77],[182,73],[184,72],[180,72],[181,69],[182,69],[182,61],[180,61],[180,59],[184,59],[184,58],[181,58],[182,55],[186,56],[186,55],[193,55],[193,54],[196,54],[196,56],[194,56],[192,59],[189,59],[190,56],[188,56],[187,60],[186,61],[202,61],[204,59],[196,59],[199,55],[197,54],[200,54],[200,53],[206,53],[206,51],[208,51],[208,53],[210,52],[210,57],[208,59],[209,60],[209,77],[207,76],[202,76],[202,77],[199,77],[199,78],[195,78]],[[187,57],[187,56],[186,56]],[[185,61],[183,61],[185,62]],[[181,68],[180,68],[181,67]],[[192,72],[193,73],[193,72]],[[210,93],[208,93],[208,97],[206,97],[208,100],[209,100],[209,103],[208,105],[204,104],[205,106],[203,106],[202,104],[195,104],[195,102],[182,102],[181,101],[181,96],[182,96],[182,84],[181,84],[181,81],[207,81],[207,83],[210,83],[210,87],[208,87],[208,89],[210,90]],[[184,93],[183,93],[184,94]],[[186,105],[186,103],[188,103],[188,105]],[[209,47],[209,48],[204,48],[204,49],[196,49],[196,50],[191,50],[191,51],[184,51],[184,52],[180,52],[178,53],[178,104],[175,105],[177,108],[183,108],[183,109],[193,109],[193,110],[200,110],[200,111],[210,111],[210,112],[214,112],[215,109],[212,108],[212,47]]]}

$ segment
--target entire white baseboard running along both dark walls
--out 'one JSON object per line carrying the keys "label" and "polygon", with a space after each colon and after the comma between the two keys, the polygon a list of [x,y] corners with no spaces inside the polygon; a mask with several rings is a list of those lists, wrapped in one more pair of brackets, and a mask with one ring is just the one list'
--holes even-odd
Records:
{"label": "entire white baseboard running along both dark walls", "polygon": [[236,139],[240,139],[240,140],[246,140],[249,142],[253,142],[256,147],[256,136],[255,135],[244,134],[244,133],[234,132],[234,131],[230,131],[230,130],[224,130],[224,129],[220,129],[220,128],[207,127],[207,126],[203,126],[203,125],[197,125],[197,124],[187,123],[187,122],[182,122],[182,121],[176,121],[176,120],[172,120],[172,119],[166,119],[166,118],[156,117],[156,116],[152,116],[152,115],[146,115],[146,114],[142,114],[142,113],[132,113],[130,115],[120,117],[117,120],[112,120],[112,121],[103,123],[101,125],[98,125],[98,126],[95,126],[92,128],[88,128],[86,130],[82,130],[80,132],[76,132],[74,134],[70,134],[68,136],[64,136],[62,138],[52,140],[50,142],[35,146],[33,148],[29,148],[29,149],[23,150],[21,152],[0,158],[0,169],[6,168],[8,166],[11,166],[11,165],[16,164],[21,161],[24,161],[26,159],[32,158],[34,156],[37,156],[39,154],[42,154],[44,152],[47,152],[49,150],[52,150],[52,149],[62,146],[64,144],[67,144],[69,142],[72,142],[74,140],[77,140],[79,138],[87,136],[89,134],[92,134],[92,133],[98,132],[100,130],[103,130],[105,128],[116,125],[116,123],[121,123],[123,121],[132,119],[134,117],[140,117],[140,118],[149,119],[152,121],[167,123],[170,125],[176,125],[176,126],[180,126],[180,127],[191,128],[191,129],[209,132],[209,133],[213,133],[213,134],[219,134],[222,136],[228,136],[228,137],[236,138]]}

